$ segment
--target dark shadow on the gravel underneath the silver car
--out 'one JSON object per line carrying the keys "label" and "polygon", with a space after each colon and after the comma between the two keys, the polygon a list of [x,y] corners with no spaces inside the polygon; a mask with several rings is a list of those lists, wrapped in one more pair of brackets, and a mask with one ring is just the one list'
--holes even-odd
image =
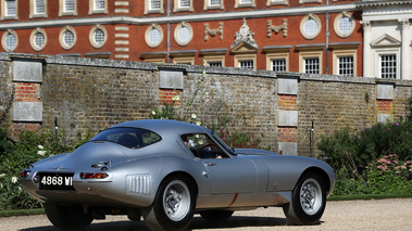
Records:
{"label": "dark shadow on the gravel underneath the silver car", "polygon": [[[230,228],[241,228],[241,227],[278,227],[286,226],[286,218],[270,218],[270,217],[244,217],[244,216],[233,216],[226,221],[211,222],[204,220],[200,217],[195,217],[191,221],[188,230],[199,230],[199,229],[210,229],[210,230],[221,230]],[[55,231],[58,230],[53,226],[48,227],[34,227],[29,229],[24,229],[22,231]],[[150,229],[145,224],[145,222],[134,222],[134,221],[112,221],[112,222],[99,222],[91,223],[85,230],[99,230],[99,231],[150,231]]]}

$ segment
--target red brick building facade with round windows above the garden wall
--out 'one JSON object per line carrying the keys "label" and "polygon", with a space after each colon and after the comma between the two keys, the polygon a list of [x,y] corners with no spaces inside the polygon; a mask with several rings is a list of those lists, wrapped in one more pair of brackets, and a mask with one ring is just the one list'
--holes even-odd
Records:
{"label": "red brick building facade with round windows above the garden wall", "polygon": [[1,52],[362,76],[360,0],[0,0]]}

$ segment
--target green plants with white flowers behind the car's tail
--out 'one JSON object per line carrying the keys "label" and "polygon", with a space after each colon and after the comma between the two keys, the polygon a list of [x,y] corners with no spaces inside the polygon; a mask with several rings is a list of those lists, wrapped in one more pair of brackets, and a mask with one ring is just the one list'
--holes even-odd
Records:
{"label": "green plants with white flowers behind the car's tail", "polygon": [[54,154],[74,151],[91,138],[90,131],[77,140],[65,139],[62,131],[55,136],[51,131],[37,134],[24,131],[20,140],[12,142],[7,131],[0,130],[0,209],[37,208],[41,204],[29,196],[18,183],[18,171],[28,165]]}

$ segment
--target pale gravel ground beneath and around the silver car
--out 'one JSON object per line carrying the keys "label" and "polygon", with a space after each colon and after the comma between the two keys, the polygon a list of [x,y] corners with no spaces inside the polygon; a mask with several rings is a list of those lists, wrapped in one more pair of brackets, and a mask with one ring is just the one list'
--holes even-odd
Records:
{"label": "pale gravel ground beneath and around the silver car", "polygon": [[[328,202],[321,223],[311,227],[286,226],[282,208],[236,211],[222,223],[208,222],[195,216],[190,230],[260,231],[260,230],[412,230],[412,198]],[[2,231],[58,230],[46,215],[0,218]],[[143,222],[128,221],[125,216],[108,216],[95,220],[86,230],[149,231]]]}

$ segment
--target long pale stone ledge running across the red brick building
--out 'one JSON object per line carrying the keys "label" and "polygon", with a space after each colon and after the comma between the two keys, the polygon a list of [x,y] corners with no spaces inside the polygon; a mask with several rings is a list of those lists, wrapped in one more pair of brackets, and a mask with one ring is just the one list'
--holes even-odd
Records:
{"label": "long pale stone ledge running across the red brick building", "polygon": [[58,27],[58,26],[77,26],[77,25],[96,25],[96,24],[165,24],[179,22],[202,22],[202,21],[223,21],[223,20],[239,20],[253,17],[273,17],[287,15],[305,15],[309,13],[322,14],[326,12],[342,12],[342,11],[359,11],[354,3],[348,4],[329,4],[307,8],[282,8],[260,11],[236,11],[236,12],[220,12],[220,13],[201,13],[201,14],[185,14],[160,17],[134,17],[134,16],[104,16],[104,17],[75,17],[64,20],[45,20],[29,22],[11,22],[2,21],[0,30],[4,29],[23,29],[36,27]]}

